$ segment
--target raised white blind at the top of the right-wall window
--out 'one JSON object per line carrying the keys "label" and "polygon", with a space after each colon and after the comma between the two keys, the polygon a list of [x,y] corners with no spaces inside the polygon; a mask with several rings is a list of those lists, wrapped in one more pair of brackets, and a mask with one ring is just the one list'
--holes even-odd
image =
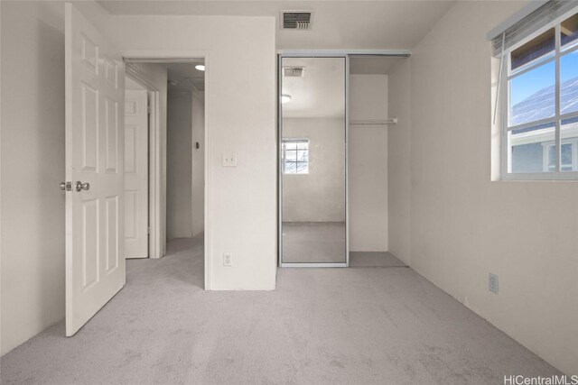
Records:
{"label": "raised white blind at the top of the right-wall window", "polygon": [[[570,12],[573,8],[578,8],[578,1],[576,0],[549,0],[545,3],[542,2],[541,4],[543,5],[539,6],[521,19],[517,20],[517,18],[514,17],[513,20],[517,20],[516,22],[512,23],[510,20],[509,23],[506,22],[500,24],[488,33],[488,38],[492,42],[493,53],[495,56],[500,56],[502,49],[508,50],[518,42],[527,38],[530,34],[538,31],[547,24],[554,22],[567,12]],[[536,7],[536,4],[528,6]],[[527,9],[526,11],[523,9],[520,12],[527,13]],[[503,47],[502,41],[504,42]]]}

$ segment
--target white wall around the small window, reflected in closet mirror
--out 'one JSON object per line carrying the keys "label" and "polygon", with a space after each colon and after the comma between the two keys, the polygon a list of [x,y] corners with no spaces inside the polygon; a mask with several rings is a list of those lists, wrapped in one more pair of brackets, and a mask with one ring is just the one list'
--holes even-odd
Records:
{"label": "white wall around the small window, reflected in closet mirror", "polygon": [[345,222],[345,120],[284,118],[284,138],[309,139],[309,174],[284,174],[284,222]]}

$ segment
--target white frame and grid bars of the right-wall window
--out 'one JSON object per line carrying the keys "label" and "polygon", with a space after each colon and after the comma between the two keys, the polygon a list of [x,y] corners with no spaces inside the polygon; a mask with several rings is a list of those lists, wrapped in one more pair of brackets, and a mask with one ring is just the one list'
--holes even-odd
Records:
{"label": "white frame and grid bars of the right-wall window", "polygon": [[[508,50],[504,50],[504,56],[502,60],[502,68],[501,70],[504,71],[504,76],[501,78],[501,84],[499,85],[500,91],[500,99],[501,102],[499,103],[499,107],[501,110],[501,135],[500,135],[500,179],[501,180],[578,180],[578,170],[577,171],[561,171],[561,122],[565,119],[575,118],[578,117],[578,111],[566,114],[560,114],[560,107],[561,107],[561,96],[560,96],[560,62],[561,59],[573,52],[578,51],[578,42],[574,41],[570,43],[567,48],[562,50],[562,40],[561,40],[561,23],[564,20],[572,17],[574,14],[577,14],[578,10],[575,8],[566,14],[556,18],[551,23],[545,24],[542,28],[536,30],[527,36],[526,39],[518,41],[512,47],[508,48]],[[554,28],[555,29],[555,50],[554,55],[546,58],[536,58],[536,60],[532,60],[518,69],[514,71],[511,70],[511,53],[513,50],[517,50],[517,48],[521,47],[522,45],[526,44],[528,41],[531,41],[545,33],[546,31]],[[536,120],[533,122],[525,123],[525,124],[517,124],[508,126],[509,124],[509,107],[510,107],[510,87],[509,82],[510,80],[517,78],[521,75],[526,74],[528,71],[532,69],[536,69],[538,67],[544,66],[547,63],[555,62],[555,115],[550,118],[545,118],[541,120]],[[555,171],[553,172],[526,172],[526,173],[513,173],[511,172],[511,151],[508,142],[508,133],[512,130],[519,130],[523,128],[534,127],[539,124],[555,124],[555,151],[556,151],[556,165]],[[573,153],[573,157],[576,155]]]}

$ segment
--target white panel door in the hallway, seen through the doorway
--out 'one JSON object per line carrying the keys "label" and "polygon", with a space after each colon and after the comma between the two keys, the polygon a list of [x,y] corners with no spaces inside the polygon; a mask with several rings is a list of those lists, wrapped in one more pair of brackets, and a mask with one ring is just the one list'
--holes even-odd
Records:
{"label": "white panel door in the hallway, seen through the doorway", "polygon": [[148,257],[148,92],[125,91],[125,256]]}

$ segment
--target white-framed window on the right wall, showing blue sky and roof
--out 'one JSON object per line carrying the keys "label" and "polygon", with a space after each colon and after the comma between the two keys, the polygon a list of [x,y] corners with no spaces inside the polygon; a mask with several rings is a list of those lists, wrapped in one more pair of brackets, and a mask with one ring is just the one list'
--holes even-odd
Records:
{"label": "white-framed window on the right wall, showing blue sky and roof", "polygon": [[578,179],[578,14],[505,50],[504,179]]}

